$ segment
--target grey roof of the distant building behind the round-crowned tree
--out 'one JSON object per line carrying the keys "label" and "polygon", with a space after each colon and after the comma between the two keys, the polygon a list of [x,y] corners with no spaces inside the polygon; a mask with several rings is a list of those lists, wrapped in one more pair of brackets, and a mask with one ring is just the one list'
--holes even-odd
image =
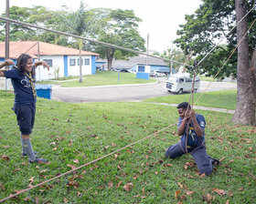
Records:
{"label": "grey roof of the distant building behind the round-crowned tree", "polygon": [[[146,59],[147,58],[147,59]],[[129,60],[112,60],[112,68],[132,68],[137,65],[147,65],[149,66],[168,66],[163,59],[155,58],[152,56],[133,56]],[[104,60],[97,59],[96,62],[102,62]]]}

